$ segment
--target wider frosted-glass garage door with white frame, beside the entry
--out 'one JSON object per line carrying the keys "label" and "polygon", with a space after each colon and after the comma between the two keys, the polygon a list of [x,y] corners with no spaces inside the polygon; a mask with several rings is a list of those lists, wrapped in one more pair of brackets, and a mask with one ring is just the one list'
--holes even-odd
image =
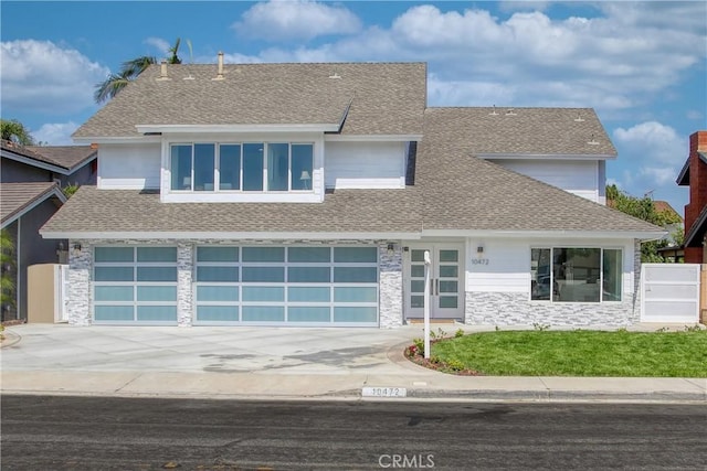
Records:
{"label": "wider frosted-glass garage door with white frame, beside the entry", "polygon": [[196,324],[378,325],[378,248],[200,246]]}

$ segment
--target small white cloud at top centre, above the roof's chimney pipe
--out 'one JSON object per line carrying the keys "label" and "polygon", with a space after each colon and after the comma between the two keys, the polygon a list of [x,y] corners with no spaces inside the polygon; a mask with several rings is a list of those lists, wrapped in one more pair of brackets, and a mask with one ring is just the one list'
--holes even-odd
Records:
{"label": "small white cloud at top centre, above the roof's chimney pipe", "polygon": [[266,41],[307,41],[321,35],[352,34],[360,28],[360,20],[348,9],[310,0],[256,3],[233,24],[240,34]]}

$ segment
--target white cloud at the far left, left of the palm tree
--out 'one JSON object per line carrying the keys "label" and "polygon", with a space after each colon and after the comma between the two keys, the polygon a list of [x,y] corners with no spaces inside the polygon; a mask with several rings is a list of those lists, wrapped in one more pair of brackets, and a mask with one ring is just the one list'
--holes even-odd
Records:
{"label": "white cloud at the far left, left of the palm tree", "polygon": [[94,105],[95,84],[109,69],[50,41],[0,43],[2,108],[70,115]]}

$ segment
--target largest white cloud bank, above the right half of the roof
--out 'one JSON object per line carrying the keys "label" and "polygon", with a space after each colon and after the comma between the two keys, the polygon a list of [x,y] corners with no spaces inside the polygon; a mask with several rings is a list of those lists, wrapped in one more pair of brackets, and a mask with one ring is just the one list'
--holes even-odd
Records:
{"label": "largest white cloud bank, above the right half of the roof", "polygon": [[271,47],[258,58],[425,61],[431,105],[587,106],[602,116],[635,114],[656,94],[672,93],[704,61],[707,26],[666,19],[673,12],[704,19],[707,7],[610,3],[615,7],[602,3],[594,17],[550,18],[524,8],[507,19],[482,9],[414,6],[388,28],[316,47]]}

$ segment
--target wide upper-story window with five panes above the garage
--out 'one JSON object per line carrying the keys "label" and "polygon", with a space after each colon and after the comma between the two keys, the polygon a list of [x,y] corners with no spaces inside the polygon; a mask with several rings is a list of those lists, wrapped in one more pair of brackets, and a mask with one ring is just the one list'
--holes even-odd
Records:
{"label": "wide upper-story window with five panes above the garage", "polygon": [[171,190],[312,191],[314,144],[295,142],[173,143]]}

